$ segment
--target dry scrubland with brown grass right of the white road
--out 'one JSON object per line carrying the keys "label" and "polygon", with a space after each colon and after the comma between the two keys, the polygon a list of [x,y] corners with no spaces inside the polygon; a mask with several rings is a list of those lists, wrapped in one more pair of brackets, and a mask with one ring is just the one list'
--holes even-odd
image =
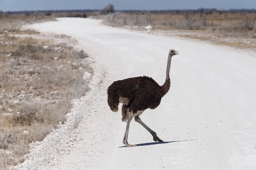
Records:
{"label": "dry scrubland with brown grass right of the white road", "polygon": [[105,16],[103,23],[145,31],[212,41],[221,45],[256,48],[256,13],[249,12],[132,12]]}

